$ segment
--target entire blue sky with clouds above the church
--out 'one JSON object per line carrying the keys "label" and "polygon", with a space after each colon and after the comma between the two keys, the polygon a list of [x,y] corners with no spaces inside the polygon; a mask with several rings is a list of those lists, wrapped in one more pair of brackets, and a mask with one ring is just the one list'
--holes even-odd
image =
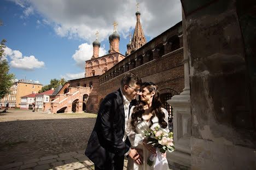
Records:
{"label": "entire blue sky with clouds above the church", "polygon": [[108,37],[117,22],[119,50],[125,55],[136,25],[136,4],[147,42],[182,20],[179,0],[1,0],[0,40],[16,79],[49,84],[53,78],[72,80],[85,74],[92,42],[108,53]]}

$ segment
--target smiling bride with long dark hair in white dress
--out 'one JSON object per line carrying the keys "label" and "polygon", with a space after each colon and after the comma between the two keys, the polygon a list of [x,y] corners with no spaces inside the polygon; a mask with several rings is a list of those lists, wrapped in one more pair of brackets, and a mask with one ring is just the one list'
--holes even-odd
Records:
{"label": "smiling bride with long dark hair in white dress", "polygon": [[[143,153],[143,165],[138,165],[129,158],[127,170],[169,169],[166,153],[160,153],[159,149],[147,144],[144,131],[156,126],[165,128],[168,132],[168,112],[161,107],[158,86],[152,82],[142,83],[139,93],[139,104],[131,108],[126,134],[131,142],[131,148],[141,149]],[[153,166],[149,166],[149,157],[156,154]]]}

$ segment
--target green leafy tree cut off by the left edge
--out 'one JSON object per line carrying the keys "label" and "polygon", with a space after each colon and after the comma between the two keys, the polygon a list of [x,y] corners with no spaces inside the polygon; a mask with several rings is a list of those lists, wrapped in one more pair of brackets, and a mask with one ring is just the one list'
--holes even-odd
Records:
{"label": "green leafy tree cut off by the left edge", "polygon": [[6,94],[10,93],[10,87],[13,85],[12,80],[15,78],[14,74],[8,74],[8,61],[7,59],[4,59],[4,48],[6,47],[4,43],[6,42],[7,41],[3,39],[0,45],[0,98],[3,98]]}

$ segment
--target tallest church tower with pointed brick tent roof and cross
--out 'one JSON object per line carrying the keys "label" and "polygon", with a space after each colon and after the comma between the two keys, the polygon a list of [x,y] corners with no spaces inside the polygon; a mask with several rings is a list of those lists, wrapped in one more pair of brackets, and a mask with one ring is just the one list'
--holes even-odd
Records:
{"label": "tallest church tower with pointed brick tent roof and cross", "polygon": [[144,36],[142,27],[141,27],[141,21],[139,21],[139,16],[141,16],[141,13],[138,11],[138,3],[137,3],[137,22],[135,26],[135,30],[132,37],[132,43],[131,43],[131,52],[136,51],[138,48],[142,47],[144,44],[147,43],[146,37]]}

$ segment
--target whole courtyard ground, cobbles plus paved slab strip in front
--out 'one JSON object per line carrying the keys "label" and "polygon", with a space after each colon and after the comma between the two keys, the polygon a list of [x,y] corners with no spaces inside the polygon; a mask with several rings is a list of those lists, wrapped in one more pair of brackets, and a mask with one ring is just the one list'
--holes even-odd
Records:
{"label": "whole courtyard ground, cobbles plus paved slab strip in front", "polygon": [[84,151],[95,121],[91,113],[0,113],[0,169],[94,169]]}

